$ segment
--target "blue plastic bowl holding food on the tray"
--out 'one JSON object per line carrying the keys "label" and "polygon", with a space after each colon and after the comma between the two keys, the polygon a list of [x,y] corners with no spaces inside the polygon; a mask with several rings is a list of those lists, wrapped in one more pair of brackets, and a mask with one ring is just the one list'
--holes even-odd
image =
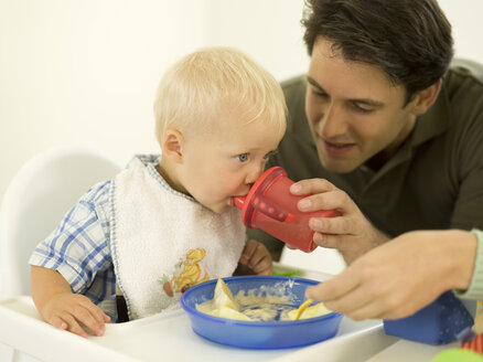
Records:
{"label": "blue plastic bowl holding food on the tray", "polygon": [[[320,281],[281,276],[244,276],[223,278],[234,295],[239,290],[254,290],[266,286],[283,291],[294,308],[305,298],[305,289]],[[211,341],[250,349],[281,349],[312,344],[337,333],[342,315],[325,316],[297,321],[242,321],[210,316],[196,310],[196,305],[213,299],[216,279],[187,289],[181,306],[187,312],[193,331]]]}

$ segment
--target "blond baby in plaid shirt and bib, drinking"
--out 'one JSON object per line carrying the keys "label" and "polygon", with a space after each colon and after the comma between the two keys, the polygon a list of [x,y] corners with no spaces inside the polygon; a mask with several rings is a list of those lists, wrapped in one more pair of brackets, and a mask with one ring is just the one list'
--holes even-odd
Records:
{"label": "blond baby in plaid shirt and bib, drinking", "polygon": [[230,198],[248,193],[285,134],[279,84],[239,51],[205,49],[165,73],[154,114],[162,156],[94,185],[30,258],[32,298],[58,329],[101,336],[125,315],[178,308],[186,288],[238,264],[271,273]]}

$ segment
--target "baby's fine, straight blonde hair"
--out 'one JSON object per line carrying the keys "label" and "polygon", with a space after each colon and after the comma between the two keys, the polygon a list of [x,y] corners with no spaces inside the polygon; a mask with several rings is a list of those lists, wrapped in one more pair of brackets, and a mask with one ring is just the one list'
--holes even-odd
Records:
{"label": "baby's fine, straight blonde hair", "polygon": [[243,111],[248,121],[262,116],[285,132],[287,107],[278,82],[243,52],[218,46],[184,56],[161,78],[154,100],[158,141],[169,128],[201,131],[213,126],[221,106]]}

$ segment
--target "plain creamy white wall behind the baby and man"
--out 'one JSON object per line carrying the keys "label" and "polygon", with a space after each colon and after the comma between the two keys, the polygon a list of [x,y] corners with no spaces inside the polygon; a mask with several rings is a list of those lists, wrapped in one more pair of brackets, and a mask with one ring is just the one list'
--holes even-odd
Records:
{"label": "plain creamy white wall behind the baby and man", "polygon": [[[483,62],[481,0],[440,0],[457,55]],[[278,79],[304,72],[303,0],[0,0],[0,200],[19,168],[57,146],[120,163],[157,152],[163,71],[205,45],[249,53]],[[473,40],[473,41],[472,41]]]}

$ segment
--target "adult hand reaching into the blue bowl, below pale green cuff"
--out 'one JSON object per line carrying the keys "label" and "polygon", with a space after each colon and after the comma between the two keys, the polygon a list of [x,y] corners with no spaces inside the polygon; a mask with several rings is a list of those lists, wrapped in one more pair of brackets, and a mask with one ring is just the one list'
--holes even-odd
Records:
{"label": "adult hand reaching into the blue bowl, below pale green cuff", "polygon": [[307,296],[354,320],[408,317],[446,290],[469,287],[476,244],[463,231],[406,233],[308,289]]}

